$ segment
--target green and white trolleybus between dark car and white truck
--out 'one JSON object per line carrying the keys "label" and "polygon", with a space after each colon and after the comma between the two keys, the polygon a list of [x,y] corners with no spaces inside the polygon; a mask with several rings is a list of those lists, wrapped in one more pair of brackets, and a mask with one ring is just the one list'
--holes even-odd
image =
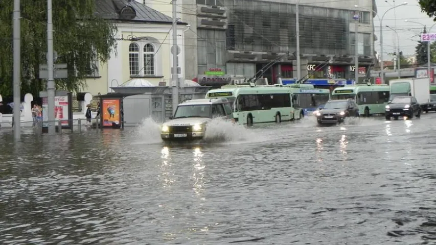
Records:
{"label": "green and white trolleybus between dark car and white truck", "polygon": [[359,106],[359,114],[364,116],[384,114],[389,101],[389,86],[381,85],[350,85],[335,88],[332,100],[353,99]]}

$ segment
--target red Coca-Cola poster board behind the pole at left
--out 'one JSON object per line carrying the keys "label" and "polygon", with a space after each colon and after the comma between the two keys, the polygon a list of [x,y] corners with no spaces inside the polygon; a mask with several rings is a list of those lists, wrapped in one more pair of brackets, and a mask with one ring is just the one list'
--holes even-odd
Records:
{"label": "red Coca-Cola poster board behind the pole at left", "polygon": [[[68,95],[55,96],[55,120],[61,121],[62,126],[69,126],[68,124]],[[42,98],[42,127],[48,127],[49,121],[49,101],[48,97]]]}

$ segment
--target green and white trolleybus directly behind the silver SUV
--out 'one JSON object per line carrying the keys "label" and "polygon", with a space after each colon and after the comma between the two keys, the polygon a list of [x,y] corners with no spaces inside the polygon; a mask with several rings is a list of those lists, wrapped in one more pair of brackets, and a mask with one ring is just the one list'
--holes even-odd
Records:
{"label": "green and white trolleybus directly behind the silver SUV", "polygon": [[289,87],[225,85],[212,89],[206,99],[226,98],[238,124],[289,121],[300,115],[294,110]]}

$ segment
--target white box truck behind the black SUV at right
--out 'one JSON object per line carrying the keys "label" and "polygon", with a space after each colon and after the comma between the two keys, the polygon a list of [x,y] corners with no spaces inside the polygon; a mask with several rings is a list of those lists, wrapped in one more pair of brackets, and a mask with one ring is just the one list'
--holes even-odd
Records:
{"label": "white box truck behind the black SUV at right", "polygon": [[414,96],[422,111],[432,110],[430,103],[430,82],[428,78],[404,78],[389,81],[389,101],[395,96]]}

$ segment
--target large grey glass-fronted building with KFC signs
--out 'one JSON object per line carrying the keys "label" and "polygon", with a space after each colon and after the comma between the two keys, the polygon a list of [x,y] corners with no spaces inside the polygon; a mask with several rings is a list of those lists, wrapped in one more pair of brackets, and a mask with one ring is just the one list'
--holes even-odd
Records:
{"label": "large grey glass-fronted building with KFC signs", "polygon": [[[262,68],[262,64],[274,59],[273,55],[287,52],[295,54],[294,4],[257,0],[196,0],[196,3],[222,7],[227,13],[225,28],[197,26],[199,74],[217,67],[229,75],[253,76]],[[359,16],[358,21],[353,19],[355,15]],[[354,70],[358,70],[351,68],[354,65],[355,48],[358,51],[359,64],[368,66],[372,63],[372,17],[369,11],[299,6],[302,59],[307,59],[309,64],[324,62],[322,57],[326,57],[324,60],[328,60],[329,57],[332,59],[331,65],[323,70],[313,70],[313,78],[352,78]],[[357,35],[354,28],[350,28],[355,22],[359,22]],[[256,54],[271,57],[260,57]],[[335,57],[341,59],[336,60]],[[295,60],[295,57],[282,61],[279,66],[267,71],[270,80],[275,80],[275,74],[295,77],[292,72],[292,60]]]}

